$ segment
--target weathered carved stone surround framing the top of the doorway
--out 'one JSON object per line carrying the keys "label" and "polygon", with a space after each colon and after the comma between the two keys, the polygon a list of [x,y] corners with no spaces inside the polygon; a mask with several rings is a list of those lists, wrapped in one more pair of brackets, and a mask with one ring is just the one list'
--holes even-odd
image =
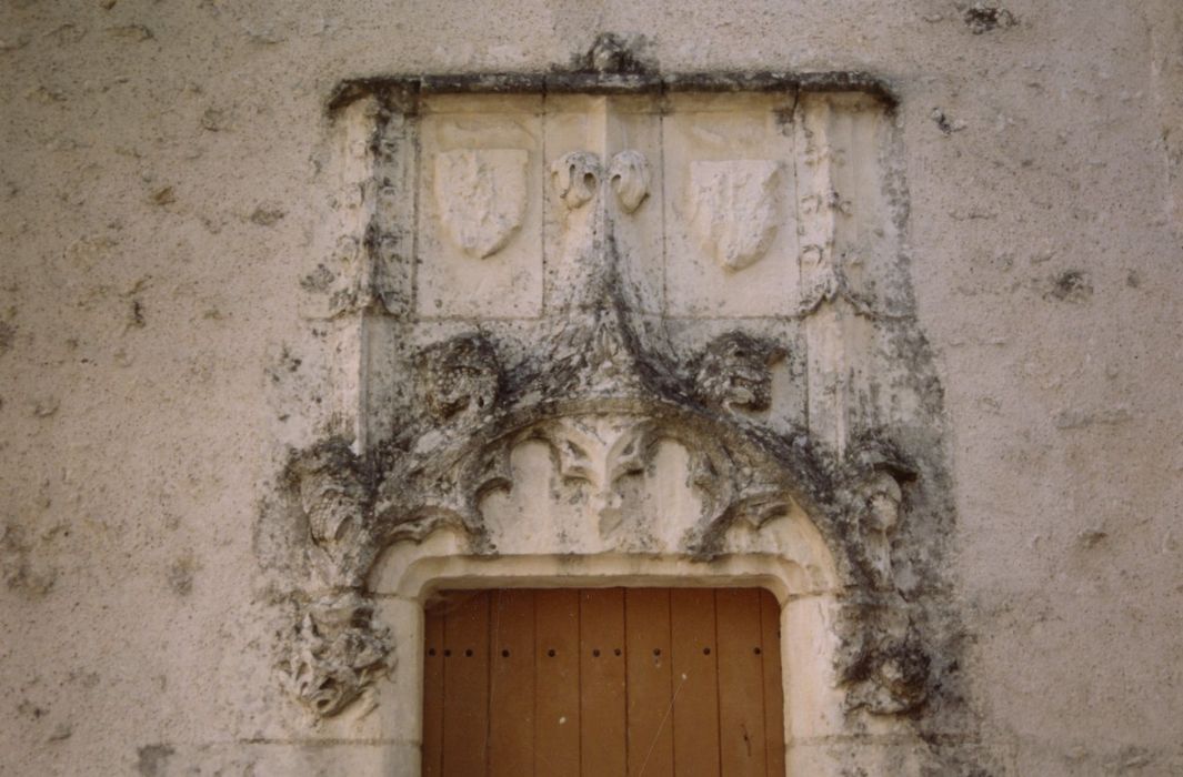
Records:
{"label": "weathered carved stone surround framing the top of the doorway", "polygon": [[608,53],[334,99],[340,218],[304,286],[337,378],[286,470],[312,575],[289,682],[322,718],[416,687],[392,649],[420,621],[375,594],[750,575],[813,646],[789,707],[809,684],[832,707],[790,740],[920,714],[950,518],[892,103]]}

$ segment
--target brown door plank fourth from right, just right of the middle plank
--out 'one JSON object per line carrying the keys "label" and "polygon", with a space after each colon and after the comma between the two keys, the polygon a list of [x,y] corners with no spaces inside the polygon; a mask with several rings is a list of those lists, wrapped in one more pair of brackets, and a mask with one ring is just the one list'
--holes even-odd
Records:
{"label": "brown door plank fourth from right, just right of the middle plank", "polygon": [[670,591],[625,591],[628,775],[673,777]]}

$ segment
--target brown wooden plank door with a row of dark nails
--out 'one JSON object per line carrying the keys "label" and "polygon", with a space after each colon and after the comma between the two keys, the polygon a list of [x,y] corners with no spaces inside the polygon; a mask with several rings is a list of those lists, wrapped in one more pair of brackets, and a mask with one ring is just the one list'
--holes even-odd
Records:
{"label": "brown wooden plank door with a row of dark nails", "polygon": [[445,591],[425,647],[425,776],[784,775],[768,591]]}

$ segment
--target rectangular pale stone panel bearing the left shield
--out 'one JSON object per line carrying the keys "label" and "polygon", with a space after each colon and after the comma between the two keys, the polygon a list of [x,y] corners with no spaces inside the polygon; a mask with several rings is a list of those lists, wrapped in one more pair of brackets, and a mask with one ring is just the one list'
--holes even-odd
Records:
{"label": "rectangular pale stone panel bearing the left shield", "polygon": [[[440,96],[419,119],[416,310],[531,318],[542,309],[539,97]],[[409,194],[409,193],[408,193]]]}

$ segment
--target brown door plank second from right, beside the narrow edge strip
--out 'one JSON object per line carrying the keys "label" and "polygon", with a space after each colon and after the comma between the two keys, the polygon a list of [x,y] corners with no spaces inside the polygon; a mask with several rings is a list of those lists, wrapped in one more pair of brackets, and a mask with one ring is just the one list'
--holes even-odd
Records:
{"label": "brown door plank second from right, beside the narrow edge strip", "polygon": [[719,773],[764,777],[764,659],[759,590],[715,593],[719,639]]}

